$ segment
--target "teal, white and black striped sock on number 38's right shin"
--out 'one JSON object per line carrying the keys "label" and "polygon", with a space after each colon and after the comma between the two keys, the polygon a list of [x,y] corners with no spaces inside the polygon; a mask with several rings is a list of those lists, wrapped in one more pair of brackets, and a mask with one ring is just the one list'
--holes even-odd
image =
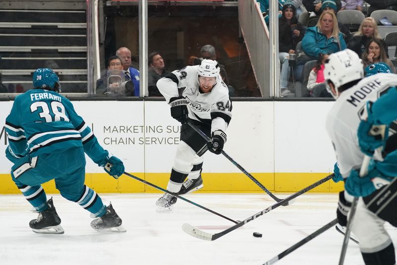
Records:
{"label": "teal, white and black striped sock on number 38's right shin", "polygon": [[75,202],[95,217],[103,216],[106,213],[106,206],[103,204],[101,197],[86,185],[84,185],[82,194]]}

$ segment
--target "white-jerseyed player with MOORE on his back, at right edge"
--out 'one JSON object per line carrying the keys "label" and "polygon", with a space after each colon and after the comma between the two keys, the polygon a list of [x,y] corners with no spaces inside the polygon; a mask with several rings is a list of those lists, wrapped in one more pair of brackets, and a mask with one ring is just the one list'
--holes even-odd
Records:
{"label": "white-jerseyed player with MOORE on his back, at right edge", "polygon": [[397,164],[397,145],[391,143],[383,152],[375,152],[368,174],[359,177],[365,154],[360,150],[357,130],[365,116],[366,103],[377,100],[389,89],[396,89],[397,75],[376,74],[363,79],[361,59],[346,49],[330,55],[324,76],[330,93],[336,98],[327,117],[327,131],[345,180],[345,191],[339,193],[338,222],[346,225],[352,197],[360,197],[352,232],[360,242],[365,264],[395,265],[393,242],[384,223],[388,221],[397,226],[397,201],[394,198],[397,192],[397,167],[394,166]]}

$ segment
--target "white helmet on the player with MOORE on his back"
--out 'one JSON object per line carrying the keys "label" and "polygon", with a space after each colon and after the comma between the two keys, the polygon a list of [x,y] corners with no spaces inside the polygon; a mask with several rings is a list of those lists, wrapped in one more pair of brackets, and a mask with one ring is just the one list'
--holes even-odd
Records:
{"label": "white helmet on the player with MOORE on his back", "polygon": [[[339,87],[362,78],[364,78],[363,63],[352,50],[345,49],[328,57],[324,68],[324,79],[328,91],[334,98],[339,96]],[[336,94],[331,91],[328,81],[332,82]]]}

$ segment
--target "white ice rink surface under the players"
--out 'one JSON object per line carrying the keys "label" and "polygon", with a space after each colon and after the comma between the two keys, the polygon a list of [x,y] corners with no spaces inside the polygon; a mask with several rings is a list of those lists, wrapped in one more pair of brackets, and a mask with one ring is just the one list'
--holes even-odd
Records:
{"label": "white ice rink surface under the players", "polygon": [[[60,195],[54,205],[63,235],[39,235],[29,228],[37,217],[22,195],[0,195],[1,265],[261,265],[335,218],[337,194],[303,194],[215,241],[182,231],[189,223],[218,233],[233,223],[178,200],[169,213],[158,213],[161,194],[101,194],[123,219],[126,233],[91,229],[89,213]],[[288,194],[275,194],[280,198]],[[47,194],[48,198],[51,195]],[[188,199],[233,220],[244,220],[274,204],[268,195],[188,194]],[[392,239],[396,229],[386,224]],[[263,234],[253,237],[254,232]],[[278,265],[336,265],[343,237],[332,227],[281,259]],[[349,242],[345,265],[363,265],[358,245]]]}

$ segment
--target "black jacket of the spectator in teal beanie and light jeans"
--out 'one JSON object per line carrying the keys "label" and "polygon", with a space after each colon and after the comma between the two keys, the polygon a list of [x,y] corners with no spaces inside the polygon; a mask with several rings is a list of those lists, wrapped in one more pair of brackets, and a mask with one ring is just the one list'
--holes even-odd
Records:
{"label": "black jacket of the spectator in teal beanie and light jeans", "polygon": [[295,36],[292,33],[291,25],[287,20],[280,17],[278,19],[278,51],[288,52],[289,50],[295,50],[296,44],[303,39],[305,35],[304,28],[301,23],[296,19],[291,19],[291,24],[296,24],[296,29],[300,31],[299,36]]}

